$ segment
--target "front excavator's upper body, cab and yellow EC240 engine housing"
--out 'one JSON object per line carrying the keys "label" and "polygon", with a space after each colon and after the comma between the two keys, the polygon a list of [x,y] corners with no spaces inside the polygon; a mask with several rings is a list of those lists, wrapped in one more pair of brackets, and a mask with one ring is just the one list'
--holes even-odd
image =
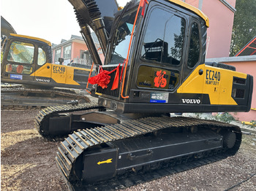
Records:
{"label": "front excavator's upper body, cab and yellow EC240 engine housing", "polygon": [[[108,87],[97,85],[100,106],[120,113],[249,111],[252,77],[233,66],[205,63],[203,12],[182,1],[159,0],[145,3],[137,16],[138,5],[131,1],[116,14],[102,69],[121,69],[110,74]],[[113,90],[116,78],[121,82]]]}

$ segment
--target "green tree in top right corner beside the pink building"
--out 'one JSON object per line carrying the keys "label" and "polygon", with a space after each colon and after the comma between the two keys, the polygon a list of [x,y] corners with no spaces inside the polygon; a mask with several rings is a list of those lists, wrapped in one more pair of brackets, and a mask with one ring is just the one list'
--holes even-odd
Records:
{"label": "green tree in top right corner beside the pink building", "polygon": [[256,36],[256,0],[236,0],[230,56]]}

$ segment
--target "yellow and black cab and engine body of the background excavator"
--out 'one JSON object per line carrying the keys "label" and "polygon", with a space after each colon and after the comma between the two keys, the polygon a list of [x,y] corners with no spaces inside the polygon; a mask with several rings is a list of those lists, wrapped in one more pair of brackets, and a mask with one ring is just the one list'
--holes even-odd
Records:
{"label": "yellow and black cab and engine body of the background excavator", "polygon": [[42,89],[86,88],[91,67],[51,63],[51,43],[45,39],[10,34],[1,42],[1,54],[1,82]]}

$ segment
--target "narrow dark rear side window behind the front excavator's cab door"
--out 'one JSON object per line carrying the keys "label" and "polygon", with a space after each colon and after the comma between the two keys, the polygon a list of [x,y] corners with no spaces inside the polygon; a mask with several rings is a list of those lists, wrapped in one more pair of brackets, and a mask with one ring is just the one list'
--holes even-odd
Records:
{"label": "narrow dark rear side window behind the front excavator's cab door", "polygon": [[187,66],[189,68],[194,68],[196,63],[199,61],[200,55],[200,33],[198,24],[193,22],[190,34],[189,42],[189,58],[187,61]]}

